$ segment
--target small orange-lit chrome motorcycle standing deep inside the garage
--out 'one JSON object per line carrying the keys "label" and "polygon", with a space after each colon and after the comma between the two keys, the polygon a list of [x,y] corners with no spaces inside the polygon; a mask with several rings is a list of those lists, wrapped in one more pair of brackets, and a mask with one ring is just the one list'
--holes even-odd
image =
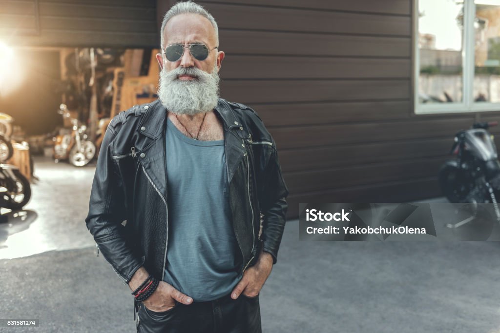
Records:
{"label": "small orange-lit chrome motorcycle standing deep inside the garage", "polygon": [[59,106],[57,113],[71,121],[71,132],[60,133],[52,138],[54,141],[54,161],[69,160],[74,166],[84,166],[95,156],[95,144],[88,140],[87,127],[78,119],[71,117],[65,104]]}

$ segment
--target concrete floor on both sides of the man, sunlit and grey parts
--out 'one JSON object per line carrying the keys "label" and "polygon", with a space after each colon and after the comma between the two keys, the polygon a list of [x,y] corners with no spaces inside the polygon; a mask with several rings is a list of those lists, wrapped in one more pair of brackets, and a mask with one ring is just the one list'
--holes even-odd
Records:
{"label": "concrete floor on both sides of the man, sunlit and grey parts", "polygon": [[[0,260],[0,317],[40,326],[0,332],[134,332],[128,287],[95,257],[84,225],[93,167],[36,159],[35,173],[27,214],[0,224],[0,258],[14,258]],[[289,221],[260,294],[263,332],[500,333],[499,250],[303,242]]]}

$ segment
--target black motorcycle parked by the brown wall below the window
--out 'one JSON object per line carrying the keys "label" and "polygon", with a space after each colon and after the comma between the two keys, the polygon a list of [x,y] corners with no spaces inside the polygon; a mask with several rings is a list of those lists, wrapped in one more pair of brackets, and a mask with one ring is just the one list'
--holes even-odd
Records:
{"label": "black motorcycle parked by the brown wall below the window", "polygon": [[444,196],[456,203],[492,203],[500,219],[497,198],[500,194],[500,162],[488,128],[497,122],[476,122],[455,134],[448,160],[439,170]]}

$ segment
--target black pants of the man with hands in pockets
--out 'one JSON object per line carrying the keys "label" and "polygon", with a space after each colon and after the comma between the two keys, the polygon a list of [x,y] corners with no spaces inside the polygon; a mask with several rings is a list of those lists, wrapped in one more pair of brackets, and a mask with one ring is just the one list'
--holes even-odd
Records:
{"label": "black pants of the man with hands in pockets", "polygon": [[229,295],[210,302],[176,303],[165,312],[153,312],[140,304],[140,333],[261,333],[258,295],[236,300]]}

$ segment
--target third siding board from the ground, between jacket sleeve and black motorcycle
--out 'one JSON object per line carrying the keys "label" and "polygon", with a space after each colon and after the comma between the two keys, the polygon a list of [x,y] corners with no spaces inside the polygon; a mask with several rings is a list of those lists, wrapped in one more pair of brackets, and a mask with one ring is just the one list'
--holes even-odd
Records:
{"label": "third siding board from the ground, between jacket sleeve and black motorcycle", "polygon": [[333,167],[405,161],[447,155],[453,138],[418,141],[361,143],[309,149],[283,150],[278,146],[279,162],[284,173]]}

